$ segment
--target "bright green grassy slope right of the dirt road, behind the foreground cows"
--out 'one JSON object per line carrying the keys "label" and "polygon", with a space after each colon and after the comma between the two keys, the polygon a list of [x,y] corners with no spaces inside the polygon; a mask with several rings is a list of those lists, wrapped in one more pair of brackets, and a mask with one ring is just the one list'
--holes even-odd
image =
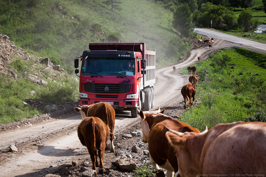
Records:
{"label": "bright green grassy slope right of the dirt road, behind the foreground cows", "polygon": [[265,54],[243,48],[219,49],[195,64],[196,99],[201,101],[189,107],[180,121],[200,131],[219,123],[266,122],[265,60]]}

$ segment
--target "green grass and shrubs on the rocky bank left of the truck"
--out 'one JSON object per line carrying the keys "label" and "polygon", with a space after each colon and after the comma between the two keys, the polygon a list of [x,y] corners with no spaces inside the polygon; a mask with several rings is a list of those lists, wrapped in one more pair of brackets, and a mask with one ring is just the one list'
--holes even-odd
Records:
{"label": "green grass and shrubs on the rocky bank left of the truck", "polygon": [[[46,113],[43,109],[46,105],[40,108],[23,104],[27,99],[41,99],[43,104],[72,102],[77,99],[79,84],[72,78],[45,72],[45,67],[41,64],[33,65],[31,60],[26,62],[19,58],[10,64],[10,70],[17,74],[17,80],[10,75],[0,75],[0,124]],[[38,73],[48,84],[31,82],[25,72],[33,75]]]}

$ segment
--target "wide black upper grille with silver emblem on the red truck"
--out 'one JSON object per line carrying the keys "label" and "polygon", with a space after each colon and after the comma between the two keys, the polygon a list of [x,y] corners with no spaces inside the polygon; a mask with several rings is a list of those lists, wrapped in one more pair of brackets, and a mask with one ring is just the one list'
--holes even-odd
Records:
{"label": "wide black upper grille with silver emblem on the red truck", "polygon": [[127,93],[130,92],[130,84],[99,84],[84,83],[84,91],[90,93]]}

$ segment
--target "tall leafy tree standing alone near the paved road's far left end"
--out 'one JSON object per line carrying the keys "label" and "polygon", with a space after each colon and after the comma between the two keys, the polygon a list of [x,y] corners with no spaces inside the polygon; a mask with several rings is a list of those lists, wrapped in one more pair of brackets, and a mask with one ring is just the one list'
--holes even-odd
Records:
{"label": "tall leafy tree standing alone near the paved road's far left end", "polygon": [[192,23],[192,12],[187,3],[179,5],[174,12],[173,27],[181,33],[183,37],[191,37],[194,31]]}

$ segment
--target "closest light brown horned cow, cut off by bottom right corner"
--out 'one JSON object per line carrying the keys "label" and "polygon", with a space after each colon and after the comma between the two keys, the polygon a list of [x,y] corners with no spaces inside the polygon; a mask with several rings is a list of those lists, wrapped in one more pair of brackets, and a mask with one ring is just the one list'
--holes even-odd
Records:
{"label": "closest light brown horned cow, cut off by bottom right corner", "polygon": [[266,173],[266,123],[219,124],[201,134],[171,131],[166,137],[177,152],[176,176]]}

